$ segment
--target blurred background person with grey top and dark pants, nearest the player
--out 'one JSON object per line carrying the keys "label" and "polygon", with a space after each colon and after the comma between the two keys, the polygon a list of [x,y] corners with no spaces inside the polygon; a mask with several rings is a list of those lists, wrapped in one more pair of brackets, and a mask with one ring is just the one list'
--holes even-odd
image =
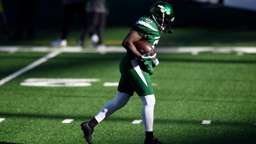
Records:
{"label": "blurred background person with grey top and dark pants, nearest the player", "polygon": [[87,27],[83,31],[81,37],[77,40],[77,45],[83,47],[83,42],[86,37],[97,29],[99,41],[96,43],[96,48],[105,48],[103,42],[104,30],[106,25],[106,16],[109,13],[109,6],[106,0],[88,0],[86,4],[86,12],[88,14]]}

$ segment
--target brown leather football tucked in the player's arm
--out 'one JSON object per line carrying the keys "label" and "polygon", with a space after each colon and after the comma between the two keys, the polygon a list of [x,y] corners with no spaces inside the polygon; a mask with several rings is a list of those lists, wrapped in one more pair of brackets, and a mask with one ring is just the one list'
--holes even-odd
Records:
{"label": "brown leather football tucked in the player's arm", "polygon": [[153,47],[145,41],[137,41],[133,43],[136,47],[137,51],[140,52],[140,54],[146,54],[148,51],[152,50],[152,52],[149,54],[149,56],[153,56],[155,54],[155,51]]}

